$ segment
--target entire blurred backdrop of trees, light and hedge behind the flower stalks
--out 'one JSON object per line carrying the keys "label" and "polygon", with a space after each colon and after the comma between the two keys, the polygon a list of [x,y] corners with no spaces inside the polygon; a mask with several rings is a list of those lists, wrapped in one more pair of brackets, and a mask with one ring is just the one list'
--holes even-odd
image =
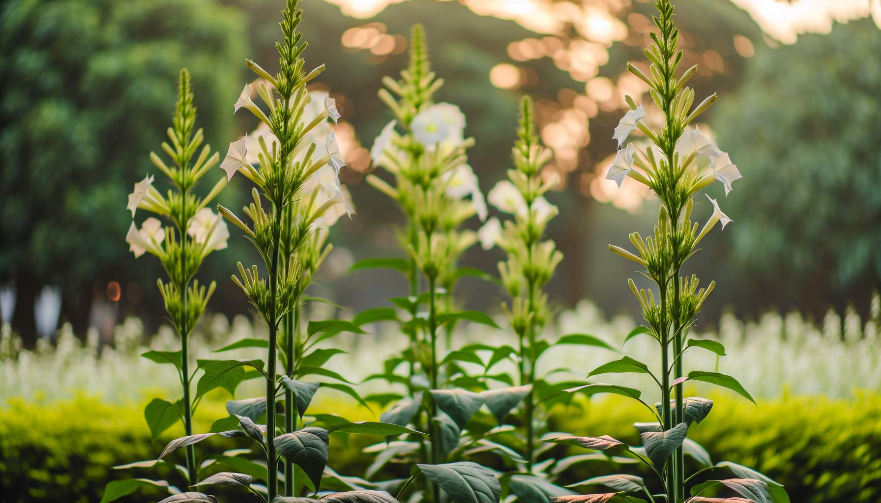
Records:
{"label": "entire blurred backdrop of trees, light and hedge behind the flower stalks", "polygon": [[[374,137],[391,118],[376,98],[381,78],[405,66],[406,35],[420,22],[433,68],[447,82],[438,99],[462,107],[466,133],[476,138],[470,165],[485,192],[511,164],[517,101],[524,93],[536,99],[541,137],[555,154],[547,174],[562,180],[548,196],[560,210],[549,234],[565,254],[549,285],[559,323],[568,317],[580,321],[576,329],[623,337],[639,315],[626,286],[635,273],[606,245],[626,243],[633,230],[646,233],[656,204],[633,181],[617,189],[603,175],[616,149],[611,131],[626,109],[624,94],[649,100],[626,62],[645,59],[652,3],[301,5],[307,66],[327,64],[315,86],[329,91],[343,114],[336,130],[349,165],[342,178],[357,209],[333,227],[336,249],[315,294],[358,312],[406,291],[394,274],[347,270],[361,258],[401,255],[401,215],[362,180],[373,170]],[[145,385],[144,373],[155,369],[137,353],[173,340],[160,327],[154,282],[161,266],[136,261],[124,242],[126,196],[154,170],[148,155],[165,137],[181,67],[193,74],[198,125],[221,155],[255,128],[252,118],[233,116],[233,102],[254,77],[246,57],[276,70],[281,6],[0,5],[0,501],[97,500],[108,478],[128,477],[107,466],[155,451],[140,411],[150,397],[174,394],[175,385],[158,377]],[[721,397],[722,412],[701,425],[698,440],[720,458],[802,488],[793,501],[877,501],[881,304],[872,293],[881,285],[881,2],[682,0],[677,24],[684,66],[700,64],[692,79],[697,93],[720,95],[700,127],[744,174],[728,197],[721,187],[709,190],[734,222],[711,233],[689,263],[688,272],[718,283],[700,330],[734,348],[729,374],[748,374],[744,385],[759,388],[754,393],[764,400],[756,413]],[[249,190],[234,179],[220,202],[240,207]],[[709,214],[707,206],[696,209],[698,219]],[[255,263],[255,252],[235,232],[229,244],[199,274],[218,280],[209,310],[222,321],[201,329],[198,351],[228,340],[233,317],[250,315],[228,277],[237,261]],[[463,265],[495,273],[501,258],[498,249],[475,247]],[[463,278],[456,297],[498,314],[504,293]],[[127,328],[136,317],[137,329]],[[19,344],[38,346],[41,333],[48,337],[35,351],[21,351]],[[107,343],[112,347],[101,349]],[[383,344],[360,351],[388,352]],[[868,393],[854,394],[858,388]],[[213,397],[211,407],[222,412],[225,399]],[[573,430],[596,426],[601,419],[584,406],[578,425],[568,411],[554,420]],[[596,427],[627,425],[635,412],[622,414]],[[781,415],[790,422],[772,420]],[[199,420],[210,424],[211,414],[205,416]],[[356,448],[347,452],[337,459],[364,461]]]}

